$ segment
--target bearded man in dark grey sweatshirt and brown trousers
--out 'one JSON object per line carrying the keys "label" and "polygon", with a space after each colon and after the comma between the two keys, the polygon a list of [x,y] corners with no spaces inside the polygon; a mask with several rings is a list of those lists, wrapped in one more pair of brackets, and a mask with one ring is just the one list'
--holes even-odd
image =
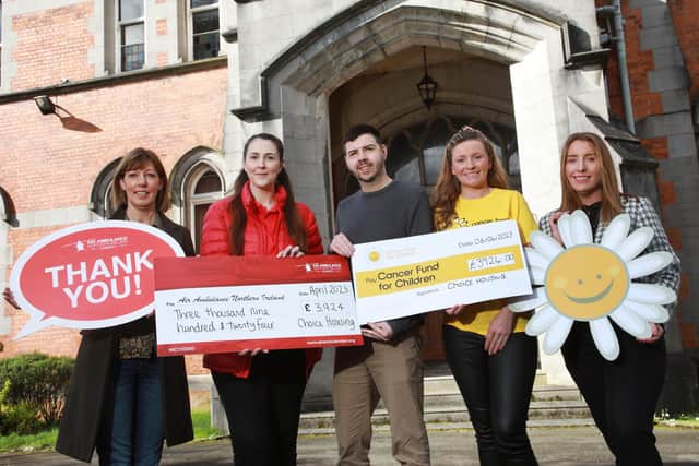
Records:
{"label": "bearded man in dark grey sweatshirt and brown trousers", "polygon": [[[431,231],[425,191],[388,176],[388,151],[376,128],[351,128],[343,146],[347,169],[360,189],[337,206],[331,251],[350,258],[356,243]],[[422,315],[370,322],[362,328],[364,346],[336,349],[332,395],[339,465],[369,464],[371,414],[380,398],[389,413],[393,457],[403,465],[429,465],[423,420],[422,323]]]}

